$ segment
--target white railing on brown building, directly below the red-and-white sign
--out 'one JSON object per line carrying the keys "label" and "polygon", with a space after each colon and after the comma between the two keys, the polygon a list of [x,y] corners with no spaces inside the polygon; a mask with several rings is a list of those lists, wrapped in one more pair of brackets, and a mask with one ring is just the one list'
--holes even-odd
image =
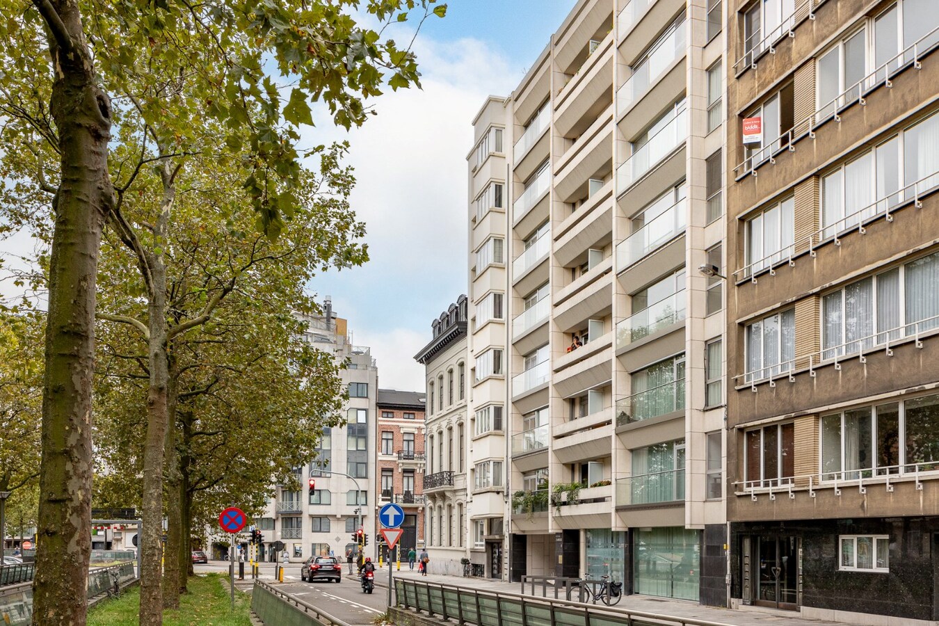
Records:
{"label": "white railing on brown building, directly below the red-and-white sign", "polygon": [[733,168],[733,175],[736,178],[747,176],[747,174],[756,175],[756,170],[766,161],[775,163],[774,155],[783,148],[789,148],[790,152],[795,151],[795,142],[803,137],[815,138],[815,130],[829,119],[836,122],[841,121],[840,111],[852,104],[864,105],[867,103],[865,96],[880,86],[890,88],[893,86],[891,80],[896,74],[912,66],[916,69],[922,68],[922,57],[931,53],[939,44],[939,26],[933,28],[929,33],[919,38],[912,45],[908,46],[901,53],[883,63],[870,74],[852,84],[842,91],[838,96],[828,100],[820,106],[815,113],[797,121],[793,128],[782,132],[777,138],[762,145],[747,156],[745,160]]}

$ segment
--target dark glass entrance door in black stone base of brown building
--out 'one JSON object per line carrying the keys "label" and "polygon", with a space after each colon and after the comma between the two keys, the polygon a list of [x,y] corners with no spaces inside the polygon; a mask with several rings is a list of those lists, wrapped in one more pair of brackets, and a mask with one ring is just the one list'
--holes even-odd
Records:
{"label": "dark glass entrance door in black stone base of brown building", "polygon": [[756,596],[753,603],[797,609],[802,575],[802,545],[798,537],[780,535],[754,540],[757,550],[753,578],[759,582],[753,589]]}

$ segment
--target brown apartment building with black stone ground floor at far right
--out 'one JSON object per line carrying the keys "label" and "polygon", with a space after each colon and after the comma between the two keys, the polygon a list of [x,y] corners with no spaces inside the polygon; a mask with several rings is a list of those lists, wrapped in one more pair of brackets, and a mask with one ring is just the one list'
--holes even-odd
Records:
{"label": "brown apartment building with black stone ground floor at far right", "polygon": [[728,5],[732,597],[935,623],[939,10]]}

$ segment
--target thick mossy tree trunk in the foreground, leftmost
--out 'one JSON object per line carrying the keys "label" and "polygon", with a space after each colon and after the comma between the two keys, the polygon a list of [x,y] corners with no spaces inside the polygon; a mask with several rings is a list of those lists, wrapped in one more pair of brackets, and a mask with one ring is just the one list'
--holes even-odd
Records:
{"label": "thick mossy tree trunk in the foreground, leftmost", "polygon": [[96,82],[74,0],[39,4],[54,66],[50,109],[61,179],[49,262],[33,622],[82,626],[91,551],[95,286],[101,230],[114,206],[111,102]]}

